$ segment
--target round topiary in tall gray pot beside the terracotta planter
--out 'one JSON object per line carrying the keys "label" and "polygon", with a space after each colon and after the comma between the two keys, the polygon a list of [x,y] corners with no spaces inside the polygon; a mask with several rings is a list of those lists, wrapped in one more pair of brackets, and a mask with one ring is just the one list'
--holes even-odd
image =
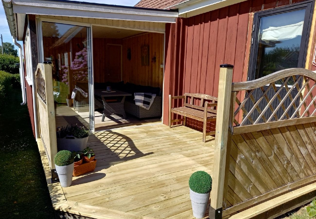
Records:
{"label": "round topiary in tall gray pot beside the terracotta planter", "polygon": [[67,150],[59,151],[54,162],[61,187],[70,186],[74,171],[74,154]]}

